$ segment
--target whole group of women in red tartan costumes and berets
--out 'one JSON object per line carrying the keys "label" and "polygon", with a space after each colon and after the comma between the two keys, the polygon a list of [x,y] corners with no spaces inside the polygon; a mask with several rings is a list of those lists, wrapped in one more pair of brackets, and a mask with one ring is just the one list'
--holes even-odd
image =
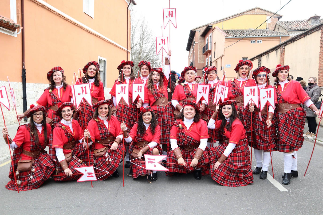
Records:
{"label": "whole group of women in red tartan costumes and berets", "polygon": [[[167,155],[162,161],[169,169],[167,176],[193,173],[200,180],[211,171],[212,179],[221,185],[246,186],[253,182],[253,174],[266,179],[271,152],[281,151],[282,183],[289,184],[292,176],[297,177],[296,152],[303,144],[306,117],[301,104],[316,115],[319,111],[301,85],[288,80],[289,66],[277,65],[272,73],[278,80],[276,88],[268,83],[268,68],[259,67],[251,74],[250,61],[239,61],[237,76],[227,83],[218,80],[216,67],[206,68],[208,104],[205,100],[196,103],[197,71],[188,66],[169,102],[170,55],[165,58],[164,72],[141,61],[139,78],[133,62],[122,61],[110,99],[104,99],[99,63],[89,62],[76,84],[90,84],[93,105],[84,102],[77,109],[64,70],[58,66],[51,69],[47,73],[50,86],[30,109],[17,116],[18,120],[30,117],[30,123],[19,126],[13,139],[7,128],[2,130],[5,142],[14,150],[6,188],[36,189],[51,176],[54,181],[77,180],[80,175],[75,174],[75,168],[86,165],[93,165],[98,180],[119,177],[117,168],[123,157],[133,179],[147,176],[156,181],[157,172],[145,169],[144,154]],[[132,101],[134,83],[144,84],[144,101],[140,97]],[[220,83],[228,87],[228,98],[214,105],[211,100]],[[129,104],[122,98],[117,105],[117,84],[129,85]],[[266,104],[260,110],[250,103],[244,107],[245,86],[273,88],[275,106]],[[213,146],[216,141],[219,145]],[[254,171],[248,144],[255,151]]]}

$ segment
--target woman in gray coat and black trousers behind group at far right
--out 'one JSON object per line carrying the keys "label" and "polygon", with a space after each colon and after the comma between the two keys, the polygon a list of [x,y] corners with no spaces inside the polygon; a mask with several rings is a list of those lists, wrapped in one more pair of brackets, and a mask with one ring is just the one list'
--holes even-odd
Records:
{"label": "woman in gray coat and black trousers behind group at far right", "polygon": [[[311,101],[313,103],[316,103],[318,101],[318,98],[321,95],[321,89],[316,82],[317,82],[316,77],[308,78],[308,87],[306,89],[306,93],[308,94],[309,97],[311,97]],[[304,105],[304,110],[306,111],[308,131],[305,134],[303,134],[303,136],[307,138],[315,138],[316,126],[317,126],[315,118],[317,117],[317,115],[305,105]]]}

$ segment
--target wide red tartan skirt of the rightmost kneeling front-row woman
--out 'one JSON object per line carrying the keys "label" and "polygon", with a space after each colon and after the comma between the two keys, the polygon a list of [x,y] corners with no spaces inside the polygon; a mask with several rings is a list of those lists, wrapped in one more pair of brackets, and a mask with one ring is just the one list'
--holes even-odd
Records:
{"label": "wide red tartan skirt of the rightmost kneeling front-row woman", "polygon": [[254,176],[250,165],[248,144],[243,142],[243,145],[240,146],[240,143],[236,145],[229,157],[220,164],[217,170],[213,170],[213,166],[221,157],[228,144],[223,143],[217,147],[209,148],[211,177],[223,186],[240,187],[253,183]]}

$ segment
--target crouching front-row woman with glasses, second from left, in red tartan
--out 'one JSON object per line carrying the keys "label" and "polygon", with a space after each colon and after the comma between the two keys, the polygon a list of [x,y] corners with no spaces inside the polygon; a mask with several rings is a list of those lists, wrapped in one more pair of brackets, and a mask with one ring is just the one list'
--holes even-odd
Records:
{"label": "crouching front-row woman with glasses, second from left, in red tartan", "polygon": [[72,119],[73,111],[72,103],[58,103],[57,116],[61,121],[54,126],[49,139],[49,154],[56,162],[54,181],[78,180],[81,175],[73,175],[79,173],[74,167],[85,166],[82,162],[86,157],[83,130],[78,121]]}

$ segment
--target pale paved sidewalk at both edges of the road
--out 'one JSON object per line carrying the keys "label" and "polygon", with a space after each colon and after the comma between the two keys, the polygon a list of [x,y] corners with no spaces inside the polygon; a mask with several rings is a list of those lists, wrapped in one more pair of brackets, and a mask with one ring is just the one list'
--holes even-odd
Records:
{"label": "pale paved sidewalk at both edges of the road", "polygon": [[[21,122],[21,124],[25,124],[23,121]],[[14,125],[8,125],[8,131],[9,131],[9,135],[12,139],[14,139],[17,129],[18,129],[19,124],[14,124]],[[2,131],[2,128],[0,128]],[[308,130],[308,126],[307,123],[305,123],[305,128],[304,131],[307,132]],[[304,132],[304,133],[305,133]],[[307,137],[304,138],[304,141],[307,142],[315,142],[315,138],[313,139],[309,139]],[[318,131],[318,138],[316,140],[316,145],[319,146],[323,146],[323,127],[321,126],[321,128]],[[11,151],[12,153],[12,151]],[[9,147],[7,144],[5,144],[5,140],[3,138],[0,138],[0,162],[6,160],[7,158],[10,158],[10,152],[9,152]]]}

